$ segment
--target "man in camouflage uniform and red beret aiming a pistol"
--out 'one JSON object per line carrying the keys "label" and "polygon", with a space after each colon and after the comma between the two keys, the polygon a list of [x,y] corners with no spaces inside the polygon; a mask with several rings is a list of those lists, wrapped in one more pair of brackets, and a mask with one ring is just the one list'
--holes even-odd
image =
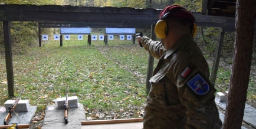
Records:
{"label": "man in camouflage uniform and red beret aiming a pistol", "polygon": [[149,80],[143,128],[221,128],[209,67],[193,41],[195,18],[185,8],[171,5],[163,9],[160,19],[167,24],[161,42],[137,37],[159,59]]}

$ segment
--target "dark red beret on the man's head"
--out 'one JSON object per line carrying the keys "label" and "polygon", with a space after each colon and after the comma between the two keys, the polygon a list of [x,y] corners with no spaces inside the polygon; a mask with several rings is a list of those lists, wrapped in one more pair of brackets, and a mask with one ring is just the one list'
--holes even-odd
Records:
{"label": "dark red beret on the man's head", "polygon": [[195,17],[192,15],[191,12],[187,11],[185,8],[179,5],[170,5],[166,6],[161,12],[160,12],[160,18],[162,19],[162,16],[164,16],[166,13],[170,12],[168,16],[165,18],[182,18],[186,19],[188,21],[191,21],[191,23],[195,22]]}

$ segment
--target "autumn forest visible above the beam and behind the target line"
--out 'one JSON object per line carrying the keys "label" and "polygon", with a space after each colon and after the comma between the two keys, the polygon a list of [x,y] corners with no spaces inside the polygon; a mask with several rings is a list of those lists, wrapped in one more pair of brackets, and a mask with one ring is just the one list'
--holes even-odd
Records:
{"label": "autumn forest visible above the beam and behind the target line", "polygon": [[[113,6],[113,7],[131,7],[131,8],[155,8],[163,9],[168,5],[182,5],[192,12],[201,12],[202,0],[0,0],[5,4],[32,4],[32,5],[71,5],[71,6]],[[42,28],[41,33],[49,35],[60,32],[58,28]],[[91,30],[100,32],[102,28],[92,28]],[[149,30],[140,30],[139,32],[149,32]],[[199,37],[197,42],[203,43],[203,48],[208,52],[214,52],[216,38],[218,38],[218,28],[199,27]],[[11,22],[11,40],[14,54],[24,54],[26,48],[38,43],[38,23],[37,22]],[[149,33],[148,33],[149,34]],[[234,33],[225,33],[224,52],[232,55],[234,45]],[[255,46],[255,45],[254,45]],[[227,51],[227,52],[226,52]],[[2,31],[2,22],[0,22],[0,53],[4,53],[4,38]]]}

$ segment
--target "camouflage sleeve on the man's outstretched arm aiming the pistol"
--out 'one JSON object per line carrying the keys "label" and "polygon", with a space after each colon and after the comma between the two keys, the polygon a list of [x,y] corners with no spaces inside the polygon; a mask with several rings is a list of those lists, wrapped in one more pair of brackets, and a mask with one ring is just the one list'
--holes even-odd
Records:
{"label": "camouflage sleeve on the man's outstretched arm aiming the pistol", "polygon": [[149,51],[150,55],[160,59],[160,57],[166,52],[165,47],[159,41],[147,38],[147,36],[142,37],[142,46]]}

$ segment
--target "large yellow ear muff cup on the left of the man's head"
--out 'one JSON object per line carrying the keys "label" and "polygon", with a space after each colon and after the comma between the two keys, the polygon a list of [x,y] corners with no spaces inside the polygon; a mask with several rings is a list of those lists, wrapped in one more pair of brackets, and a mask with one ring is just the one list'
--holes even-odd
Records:
{"label": "large yellow ear muff cup on the left of the man's head", "polygon": [[167,35],[167,31],[168,31],[167,29],[168,28],[167,28],[166,21],[163,21],[163,20],[157,21],[155,26],[155,33],[157,38],[164,39]]}

